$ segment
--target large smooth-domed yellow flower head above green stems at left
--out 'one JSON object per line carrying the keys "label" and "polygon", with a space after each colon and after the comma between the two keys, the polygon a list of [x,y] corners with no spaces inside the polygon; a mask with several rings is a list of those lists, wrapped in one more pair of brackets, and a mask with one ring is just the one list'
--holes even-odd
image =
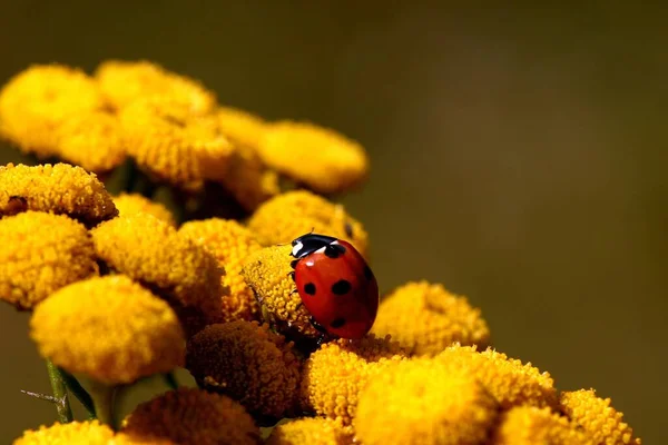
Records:
{"label": "large smooth-domed yellow flower head above green stems at left", "polygon": [[105,384],[165,373],[185,357],[169,305],[122,275],[56,291],[35,309],[30,335],[43,357]]}

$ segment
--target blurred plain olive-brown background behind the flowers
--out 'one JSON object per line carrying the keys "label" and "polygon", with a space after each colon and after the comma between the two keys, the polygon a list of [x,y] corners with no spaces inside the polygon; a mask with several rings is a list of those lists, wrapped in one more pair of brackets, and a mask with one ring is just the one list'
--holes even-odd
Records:
{"label": "blurred plain olive-brown background behind the flowers", "polygon": [[[667,11],[138,3],[1,1],[0,81],[147,58],[224,103],[358,139],[373,172],[344,202],[384,291],[443,283],[482,308],[497,348],[612,397],[645,443],[668,439]],[[27,317],[2,305],[0,326],[9,443],[55,409],[19,393],[49,390]]]}

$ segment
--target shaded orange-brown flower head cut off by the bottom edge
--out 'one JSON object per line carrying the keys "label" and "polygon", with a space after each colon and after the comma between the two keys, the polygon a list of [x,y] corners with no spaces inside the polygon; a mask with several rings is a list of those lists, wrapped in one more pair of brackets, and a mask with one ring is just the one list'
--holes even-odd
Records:
{"label": "shaded orange-brown flower head cut off by the bottom edge", "polygon": [[250,415],[229,397],[179,388],[137,406],[117,444],[257,445],[259,437]]}

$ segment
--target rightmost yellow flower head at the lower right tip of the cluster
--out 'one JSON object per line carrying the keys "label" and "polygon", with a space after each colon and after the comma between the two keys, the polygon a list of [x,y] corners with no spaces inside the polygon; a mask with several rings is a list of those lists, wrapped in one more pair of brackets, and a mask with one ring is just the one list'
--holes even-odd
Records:
{"label": "rightmost yellow flower head at the lower right tip of the cluster", "polygon": [[633,429],[622,421],[623,414],[611,406],[610,398],[597,397],[593,389],[561,393],[561,411],[600,445],[640,445]]}

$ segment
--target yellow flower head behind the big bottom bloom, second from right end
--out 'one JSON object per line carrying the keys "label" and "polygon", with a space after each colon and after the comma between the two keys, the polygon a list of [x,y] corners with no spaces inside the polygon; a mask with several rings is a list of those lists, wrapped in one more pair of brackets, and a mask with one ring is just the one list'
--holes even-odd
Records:
{"label": "yellow flower head behind the big bottom bloom, second from right end", "polygon": [[451,346],[435,357],[453,369],[474,375],[502,408],[517,405],[557,406],[557,389],[549,373],[491,348]]}

